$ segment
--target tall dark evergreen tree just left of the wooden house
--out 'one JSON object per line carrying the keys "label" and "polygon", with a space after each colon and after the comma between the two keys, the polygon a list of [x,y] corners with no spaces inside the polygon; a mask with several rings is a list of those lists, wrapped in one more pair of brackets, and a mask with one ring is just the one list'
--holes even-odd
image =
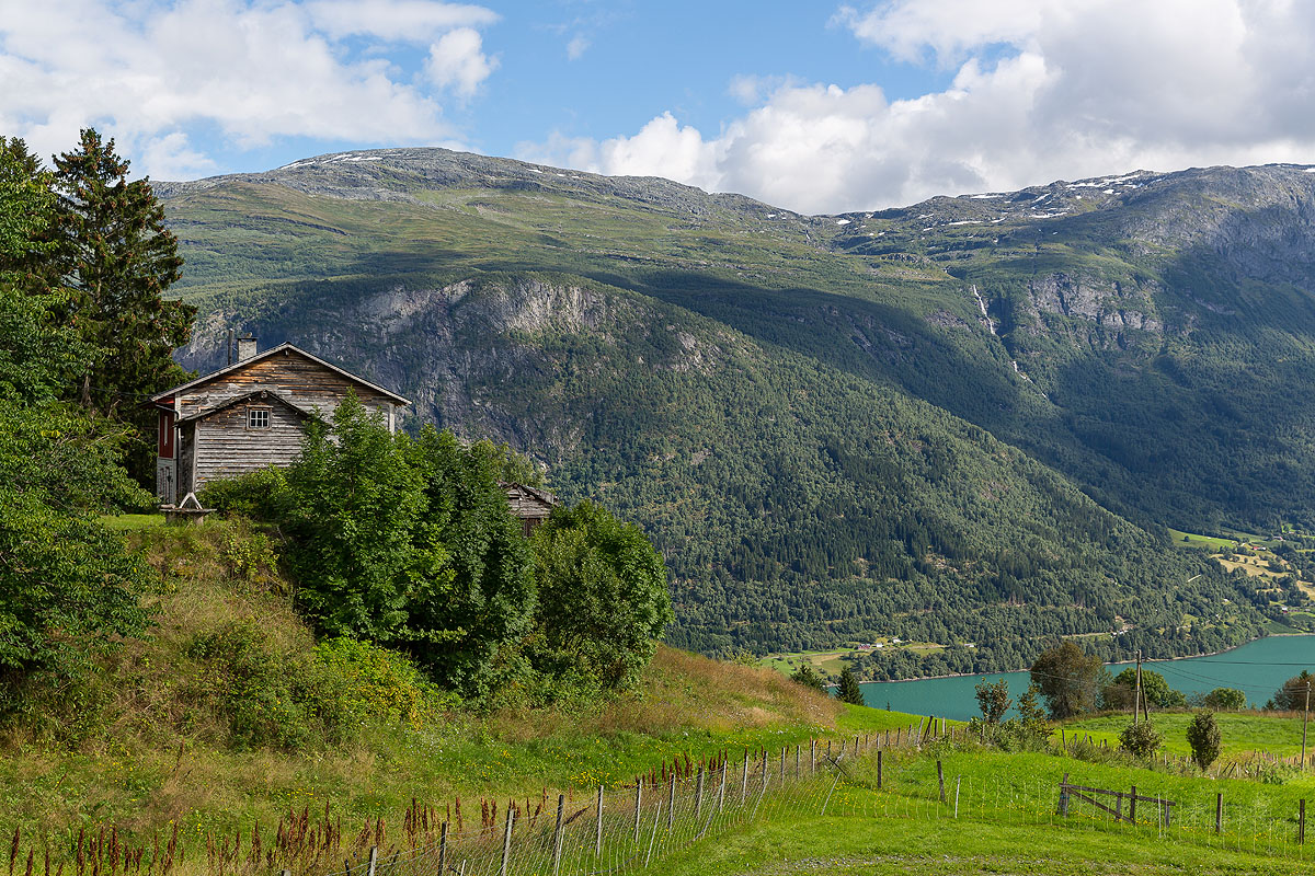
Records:
{"label": "tall dark evergreen tree just left of the wooden house", "polygon": [[191,339],[196,307],[163,297],[180,276],[178,239],[149,180],[129,183],[114,141],[92,129],[55,158],[54,189],[50,285],[72,292],[68,322],[92,348],[74,397],[116,416],[183,376],[172,353]]}

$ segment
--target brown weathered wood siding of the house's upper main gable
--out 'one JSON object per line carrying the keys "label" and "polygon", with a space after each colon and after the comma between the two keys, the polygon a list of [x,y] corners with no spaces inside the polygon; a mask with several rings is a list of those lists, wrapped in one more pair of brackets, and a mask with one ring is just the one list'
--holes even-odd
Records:
{"label": "brown weathered wood siding of the house's upper main gable", "polygon": [[256,390],[276,393],[308,411],[320,410],[325,418],[333,416],[338,402],[348,390],[354,390],[362,405],[371,411],[383,411],[391,420],[389,426],[394,427],[393,405],[388,397],[360,386],[291,349],[237,368],[180,393],[179,414],[187,418]]}

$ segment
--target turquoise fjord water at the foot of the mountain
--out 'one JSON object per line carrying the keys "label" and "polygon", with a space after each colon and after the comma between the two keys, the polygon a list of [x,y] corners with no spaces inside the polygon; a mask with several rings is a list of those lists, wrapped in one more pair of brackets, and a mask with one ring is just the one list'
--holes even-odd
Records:
{"label": "turquoise fjord water at the foot of the mountain", "polygon": [[[1126,663],[1111,663],[1119,672]],[[1260,708],[1278,687],[1303,668],[1315,671],[1315,636],[1269,636],[1223,654],[1187,657],[1176,661],[1147,661],[1144,668],[1164,675],[1169,687],[1191,693],[1207,693],[1216,687],[1235,687],[1247,693],[1247,703]],[[914,714],[934,714],[967,721],[978,714],[974,688],[982,680],[1009,682],[1009,693],[1018,699],[1027,691],[1027,672],[960,675],[914,682],[868,682],[861,684],[868,705]]]}

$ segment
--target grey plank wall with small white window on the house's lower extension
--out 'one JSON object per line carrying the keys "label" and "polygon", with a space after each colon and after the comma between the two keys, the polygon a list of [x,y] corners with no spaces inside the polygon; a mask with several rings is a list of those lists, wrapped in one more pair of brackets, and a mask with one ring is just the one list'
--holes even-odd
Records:
{"label": "grey plank wall with small white window on the house's lower extension", "polygon": [[[270,411],[270,428],[247,428],[250,408]],[[196,481],[288,465],[301,452],[305,416],[276,401],[241,402],[196,422]]]}

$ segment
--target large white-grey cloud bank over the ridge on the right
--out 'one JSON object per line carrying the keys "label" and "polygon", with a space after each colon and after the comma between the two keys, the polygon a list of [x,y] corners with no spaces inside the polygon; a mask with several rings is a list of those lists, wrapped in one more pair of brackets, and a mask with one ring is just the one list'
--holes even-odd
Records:
{"label": "large white-grey cloud bank over the ridge on the right", "polygon": [[707,137],[663,114],[537,155],[831,213],[1139,167],[1315,162],[1315,12],[1298,0],[897,0],[836,21],[897,59],[949,64],[952,83],[889,101],[874,84],[764,92],[739,77],[730,91],[752,108]]}

